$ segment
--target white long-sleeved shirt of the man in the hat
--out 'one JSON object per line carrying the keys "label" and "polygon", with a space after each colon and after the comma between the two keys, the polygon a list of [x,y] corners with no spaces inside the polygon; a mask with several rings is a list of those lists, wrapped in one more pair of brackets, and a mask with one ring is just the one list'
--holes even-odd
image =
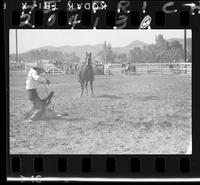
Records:
{"label": "white long-sleeved shirt of the man in the hat", "polygon": [[26,79],[26,89],[36,89],[41,83],[46,83],[46,79],[38,75],[37,71],[31,68]]}

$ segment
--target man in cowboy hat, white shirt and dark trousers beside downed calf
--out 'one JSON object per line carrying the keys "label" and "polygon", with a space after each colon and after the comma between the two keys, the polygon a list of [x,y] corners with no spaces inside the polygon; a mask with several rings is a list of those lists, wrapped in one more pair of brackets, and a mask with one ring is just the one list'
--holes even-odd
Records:
{"label": "man in cowboy hat, white shirt and dark trousers beside downed calf", "polygon": [[44,72],[45,70],[42,66],[37,64],[35,67],[30,69],[27,76],[26,89],[28,91],[29,100],[33,103],[33,109],[37,109],[30,117],[32,120],[36,120],[42,116],[45,111],[45,103],[40,99],[36,90],[40,84],[50,84],[48,79],[41,76]]}

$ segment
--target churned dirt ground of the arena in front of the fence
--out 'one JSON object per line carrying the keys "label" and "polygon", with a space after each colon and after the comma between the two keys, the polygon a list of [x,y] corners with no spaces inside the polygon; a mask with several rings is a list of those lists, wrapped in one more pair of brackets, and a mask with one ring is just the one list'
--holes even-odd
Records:
{"label": "churned dirt ground of the arena in front of the fence", "polygon": [[[75,75],[51,75],[65,120],[24,121],[25,73],[10,73],[11,154],[184,154],[191,137],[190,75],[99,75],[80,98]],[[44,87],[39,89],[46,95]]]}

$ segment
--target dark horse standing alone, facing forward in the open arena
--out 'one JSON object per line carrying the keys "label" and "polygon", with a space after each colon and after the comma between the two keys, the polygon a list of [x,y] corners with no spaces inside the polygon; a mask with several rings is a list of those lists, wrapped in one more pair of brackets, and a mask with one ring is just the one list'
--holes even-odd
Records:
{"label": "dark horse standing alone, facing forward in the open arena", "polygon": [[90,88],[92,91],[92,96],[94,96],[93,93],[93,82],[95,80],[94,78],[94,70],[92,67],[92,53],[86,52],[86,64],[82,64],[79,66],[78,69],[78,75],[79,75],[79,82],[81,84],[81,97],[83,96],[84,86],[86,88],[86,94],[88,95],[88,89],[87,85],[88,82],[90,82]]}

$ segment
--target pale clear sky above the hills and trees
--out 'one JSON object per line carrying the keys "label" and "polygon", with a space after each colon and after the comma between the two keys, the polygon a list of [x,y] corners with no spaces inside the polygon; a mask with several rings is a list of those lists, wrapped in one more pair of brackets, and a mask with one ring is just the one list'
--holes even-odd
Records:
{"label": "pale clear sky above the hills and trees", "polygon": [[[162,34],[165,39],[184,38],[184,31],[173,30],[52,30],[52,29],[18,29],[18,52],[23,53],[43,46],[80,46],[110,42],[113,47],[123,47],[134,40],[147,44],[155,43],[156,35]],[[191,30],[187,30],[187,37],[191,38]],[[16,30],[9,30],[9,53],[16,52]]]}

